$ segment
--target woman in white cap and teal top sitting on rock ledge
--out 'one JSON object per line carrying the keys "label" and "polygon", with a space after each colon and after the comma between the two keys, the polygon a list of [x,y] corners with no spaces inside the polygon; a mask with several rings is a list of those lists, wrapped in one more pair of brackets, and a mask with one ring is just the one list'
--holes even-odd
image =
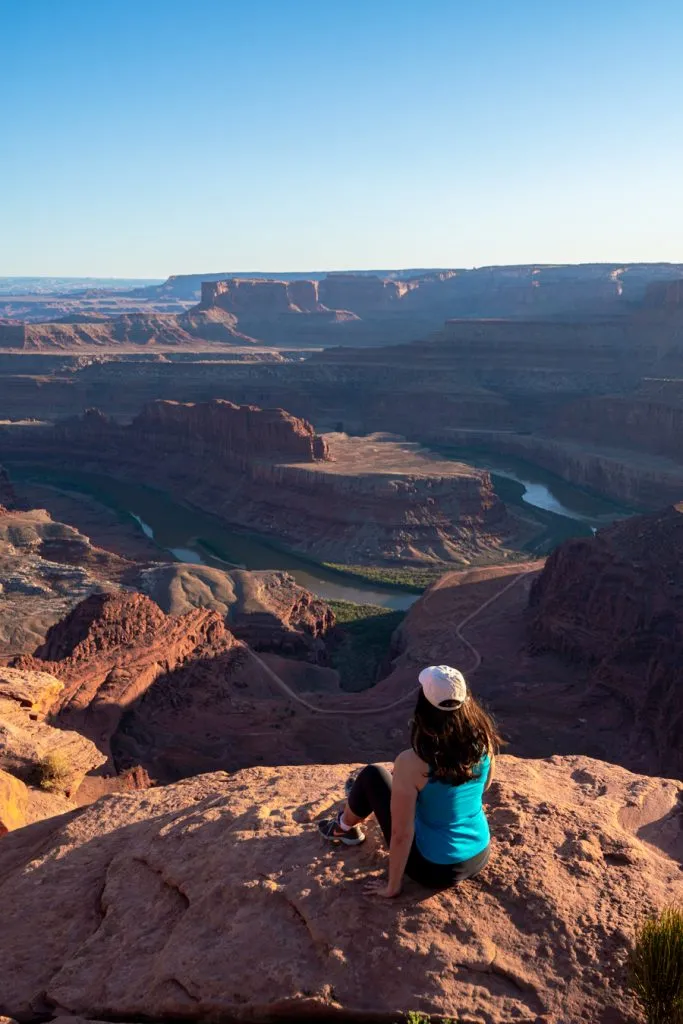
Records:
{"label": "woman in white cap and teal top sitting on rock ledge", "polygon": [[501,737],[457,669],[423,669],[411,748],[398,755],[393,776],[368,765],[347,783],[348,800],[336,818],[318,823],[333,843],[357,846],[360,822],[375,814],[389,847],[388,882],[369,891],[390,899],[403,873],[430,889],[472,878],[488,862],[488,822],[482,796],[494,772]]}

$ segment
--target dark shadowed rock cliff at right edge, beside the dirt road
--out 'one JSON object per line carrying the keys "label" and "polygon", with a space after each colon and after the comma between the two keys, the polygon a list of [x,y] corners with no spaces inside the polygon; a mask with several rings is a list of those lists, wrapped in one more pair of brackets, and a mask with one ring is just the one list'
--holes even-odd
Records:
{"label": "dark shadowed rock cliff at right edge, beside the dirt road", "polygon": [[628,709],[629,744],[647,745],[653,770],[678,777],[682,565],[683,505],[676,505],[563,544],[529,600],[532,649],[589,666],[597,692]]}

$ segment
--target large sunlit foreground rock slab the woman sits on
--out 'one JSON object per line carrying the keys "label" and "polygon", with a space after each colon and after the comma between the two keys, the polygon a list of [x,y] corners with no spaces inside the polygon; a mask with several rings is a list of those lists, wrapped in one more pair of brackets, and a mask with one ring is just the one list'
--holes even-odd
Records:
{"label": "large sunlit foreground rock slab the woman sits on", "polygon": [[362,898],[386,866],[374,826],[344,852],[314,825],[349,767],[201,776],[5,837],[0,1013],[633,1019],[634,930],[681,897],[679,783],[502,758],[488,867],[457,891],[409,882],[383,901]]}

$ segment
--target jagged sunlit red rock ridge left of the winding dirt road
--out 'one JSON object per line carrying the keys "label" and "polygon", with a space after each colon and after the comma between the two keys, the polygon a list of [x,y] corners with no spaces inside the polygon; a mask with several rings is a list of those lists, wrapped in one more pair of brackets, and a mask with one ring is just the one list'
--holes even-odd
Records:
{"label": "jagged sunlit red rock ridge left of the winding dirt road", "polygon": [[[159,579],[156,585],[164,589]],[[237,616],[242,631],[264,648],[269,640],[269,649],[284,653],[305,656],[315,649],[313,637],[304,647],[303,630],[284,627],[278,646],[275,615],[264,622],[252,607],[250,626],[245,605]],[[305,740],[292,728],[291,693],[305,691],[309,682],[315,688],[321,680],[311,676],[330,670],[272,654],[263,658],[234,637],[219,611],[190,607],[169,615],[145,595],[124,592],[81,602],[34,656],[14,666],[60,680],[53,721],[95,742],[106,756],[108,773],[141,765],[151,777],[168,781],[254,763],[264,741],[269,757],[307,756]],[[286,685],[278,682],[282,677]]]}

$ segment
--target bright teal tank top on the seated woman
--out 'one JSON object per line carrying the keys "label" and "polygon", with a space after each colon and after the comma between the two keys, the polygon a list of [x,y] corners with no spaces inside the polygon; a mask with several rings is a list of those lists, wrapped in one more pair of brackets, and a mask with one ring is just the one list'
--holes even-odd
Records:
{"label": "bright teal tank top on the seated woman", "polygon": [[469,781],[451,785],[430,779],[420,791],[415,808],[415,841],[427,860],[457,864],[486,849],[490,833],[481,801],[489,767],[486,754]]}

